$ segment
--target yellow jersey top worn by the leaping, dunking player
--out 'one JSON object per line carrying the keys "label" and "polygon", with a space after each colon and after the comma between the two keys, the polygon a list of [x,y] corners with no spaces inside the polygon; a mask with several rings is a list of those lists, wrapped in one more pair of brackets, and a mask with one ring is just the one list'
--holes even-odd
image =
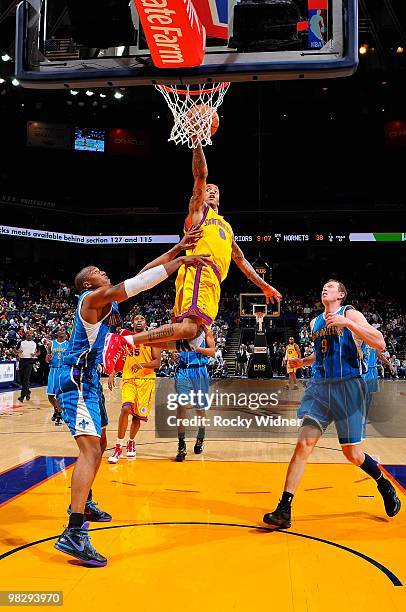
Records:
{"label": "yellow jersey top worn by the leaping, dunking player", "polygon": [[218,269],[223,281],[228,273],[233,246],[233,230],[224,218],[206,204],[200,224],[202,237],[187,255],[211,255],[211,261]]}

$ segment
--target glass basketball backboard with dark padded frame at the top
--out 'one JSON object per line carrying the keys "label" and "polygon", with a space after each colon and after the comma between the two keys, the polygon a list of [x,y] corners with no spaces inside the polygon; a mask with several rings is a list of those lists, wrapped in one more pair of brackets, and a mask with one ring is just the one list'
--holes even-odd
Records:
{"label": "glass basketball backboard with dark padded frame at the top", "polygon": [[[166,0],[160,2],[166,6]],[[325,79],[348,76],[358,63],[358,0],[193,0],[207,46],[202,65],[189,69],[154,67],[133,0],[128,20],[134,36],[108,48],[75,40],[68,10],[72,2],[66,3],[59,21],[52,0],[18,5],[16,77],[22,86]]]}

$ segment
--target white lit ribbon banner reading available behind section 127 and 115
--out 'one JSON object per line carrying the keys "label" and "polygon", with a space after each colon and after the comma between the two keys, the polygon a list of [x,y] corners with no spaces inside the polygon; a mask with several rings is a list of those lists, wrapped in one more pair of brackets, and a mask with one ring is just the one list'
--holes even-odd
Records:
{"label": "white lit ribbon banner reading available behind section 127 and 115", "polygon": [[0,236],[10,238],[36,238],[39,240],[56,240],[73,244],[175,244],[180,238],[176,234],[153,234],[138,236],[81,236],[64,232],[49,232],[24,227],[0,225]]}

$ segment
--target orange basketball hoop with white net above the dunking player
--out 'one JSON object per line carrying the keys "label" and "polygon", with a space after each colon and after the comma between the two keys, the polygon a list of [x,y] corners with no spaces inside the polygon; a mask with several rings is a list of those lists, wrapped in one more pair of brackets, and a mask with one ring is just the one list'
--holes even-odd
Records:
{"label": "orange basketball hoop with white net above the dunking player", "polygon": [[[217,109],[222,104],[230,83],[217,85],[155,85],[171,109],[174,125],[168,140],[187,144],[189,149],[211,145],[218,127]],[[186,87],[186,89],[185,89]]]}

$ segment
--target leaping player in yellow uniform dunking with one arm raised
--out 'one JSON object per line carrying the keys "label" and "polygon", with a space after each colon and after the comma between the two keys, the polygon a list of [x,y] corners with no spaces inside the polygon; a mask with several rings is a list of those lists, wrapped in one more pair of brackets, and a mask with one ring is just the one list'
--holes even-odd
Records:
{"label": "leaping player in yellow uniform dunking with one arm raised", "polygon": [[134,335],[135,344],[157,345],[161,348],[195,350],[204,338],[204,326],[217,316],[220,301],[220,283],[224,281],[233,260],[245,276],[261,289],[272,302],[280,300],[279,291],[268,285],[245,259],[234,241],[231,225],[219,215],[219,188],[207,184],[207,165],[202,147],[193,150],[193,194],[185,231],[199,231],[199,239],[187,253],[209,258],[205,266],[179,268],[176,279],[174,322],[154,330]]}

